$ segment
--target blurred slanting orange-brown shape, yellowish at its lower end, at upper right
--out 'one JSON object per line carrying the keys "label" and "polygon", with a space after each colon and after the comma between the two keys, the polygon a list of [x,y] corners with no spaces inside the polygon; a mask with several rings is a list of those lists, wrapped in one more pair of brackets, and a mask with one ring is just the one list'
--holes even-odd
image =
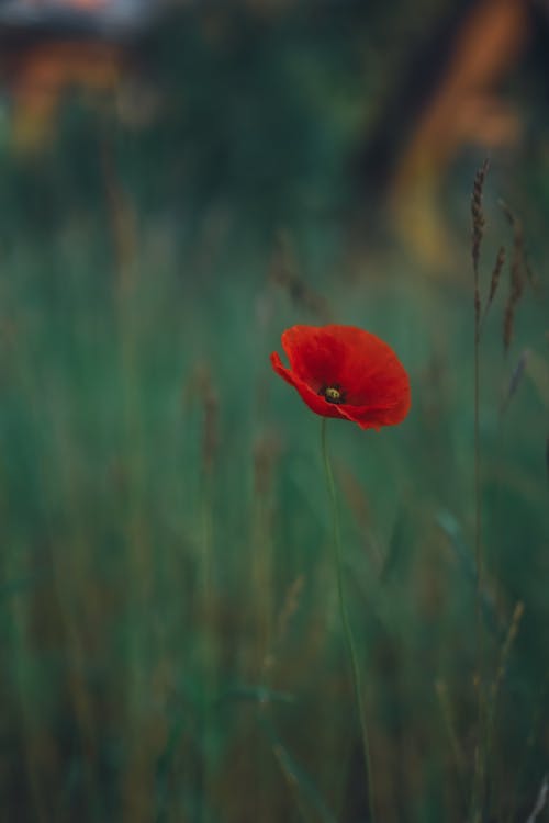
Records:
{"label": "blurred slanting orange-brown shape, yellowish at its lower end, at upper right", "polygon": [[468,146],[508,148],[520,137],[518,114],[500,88],[526,46],[528,25],[524,2],[473,5],[395,169],[390,200],[400,234],[435,267],[450,248],[439,206],[450,164]]}

